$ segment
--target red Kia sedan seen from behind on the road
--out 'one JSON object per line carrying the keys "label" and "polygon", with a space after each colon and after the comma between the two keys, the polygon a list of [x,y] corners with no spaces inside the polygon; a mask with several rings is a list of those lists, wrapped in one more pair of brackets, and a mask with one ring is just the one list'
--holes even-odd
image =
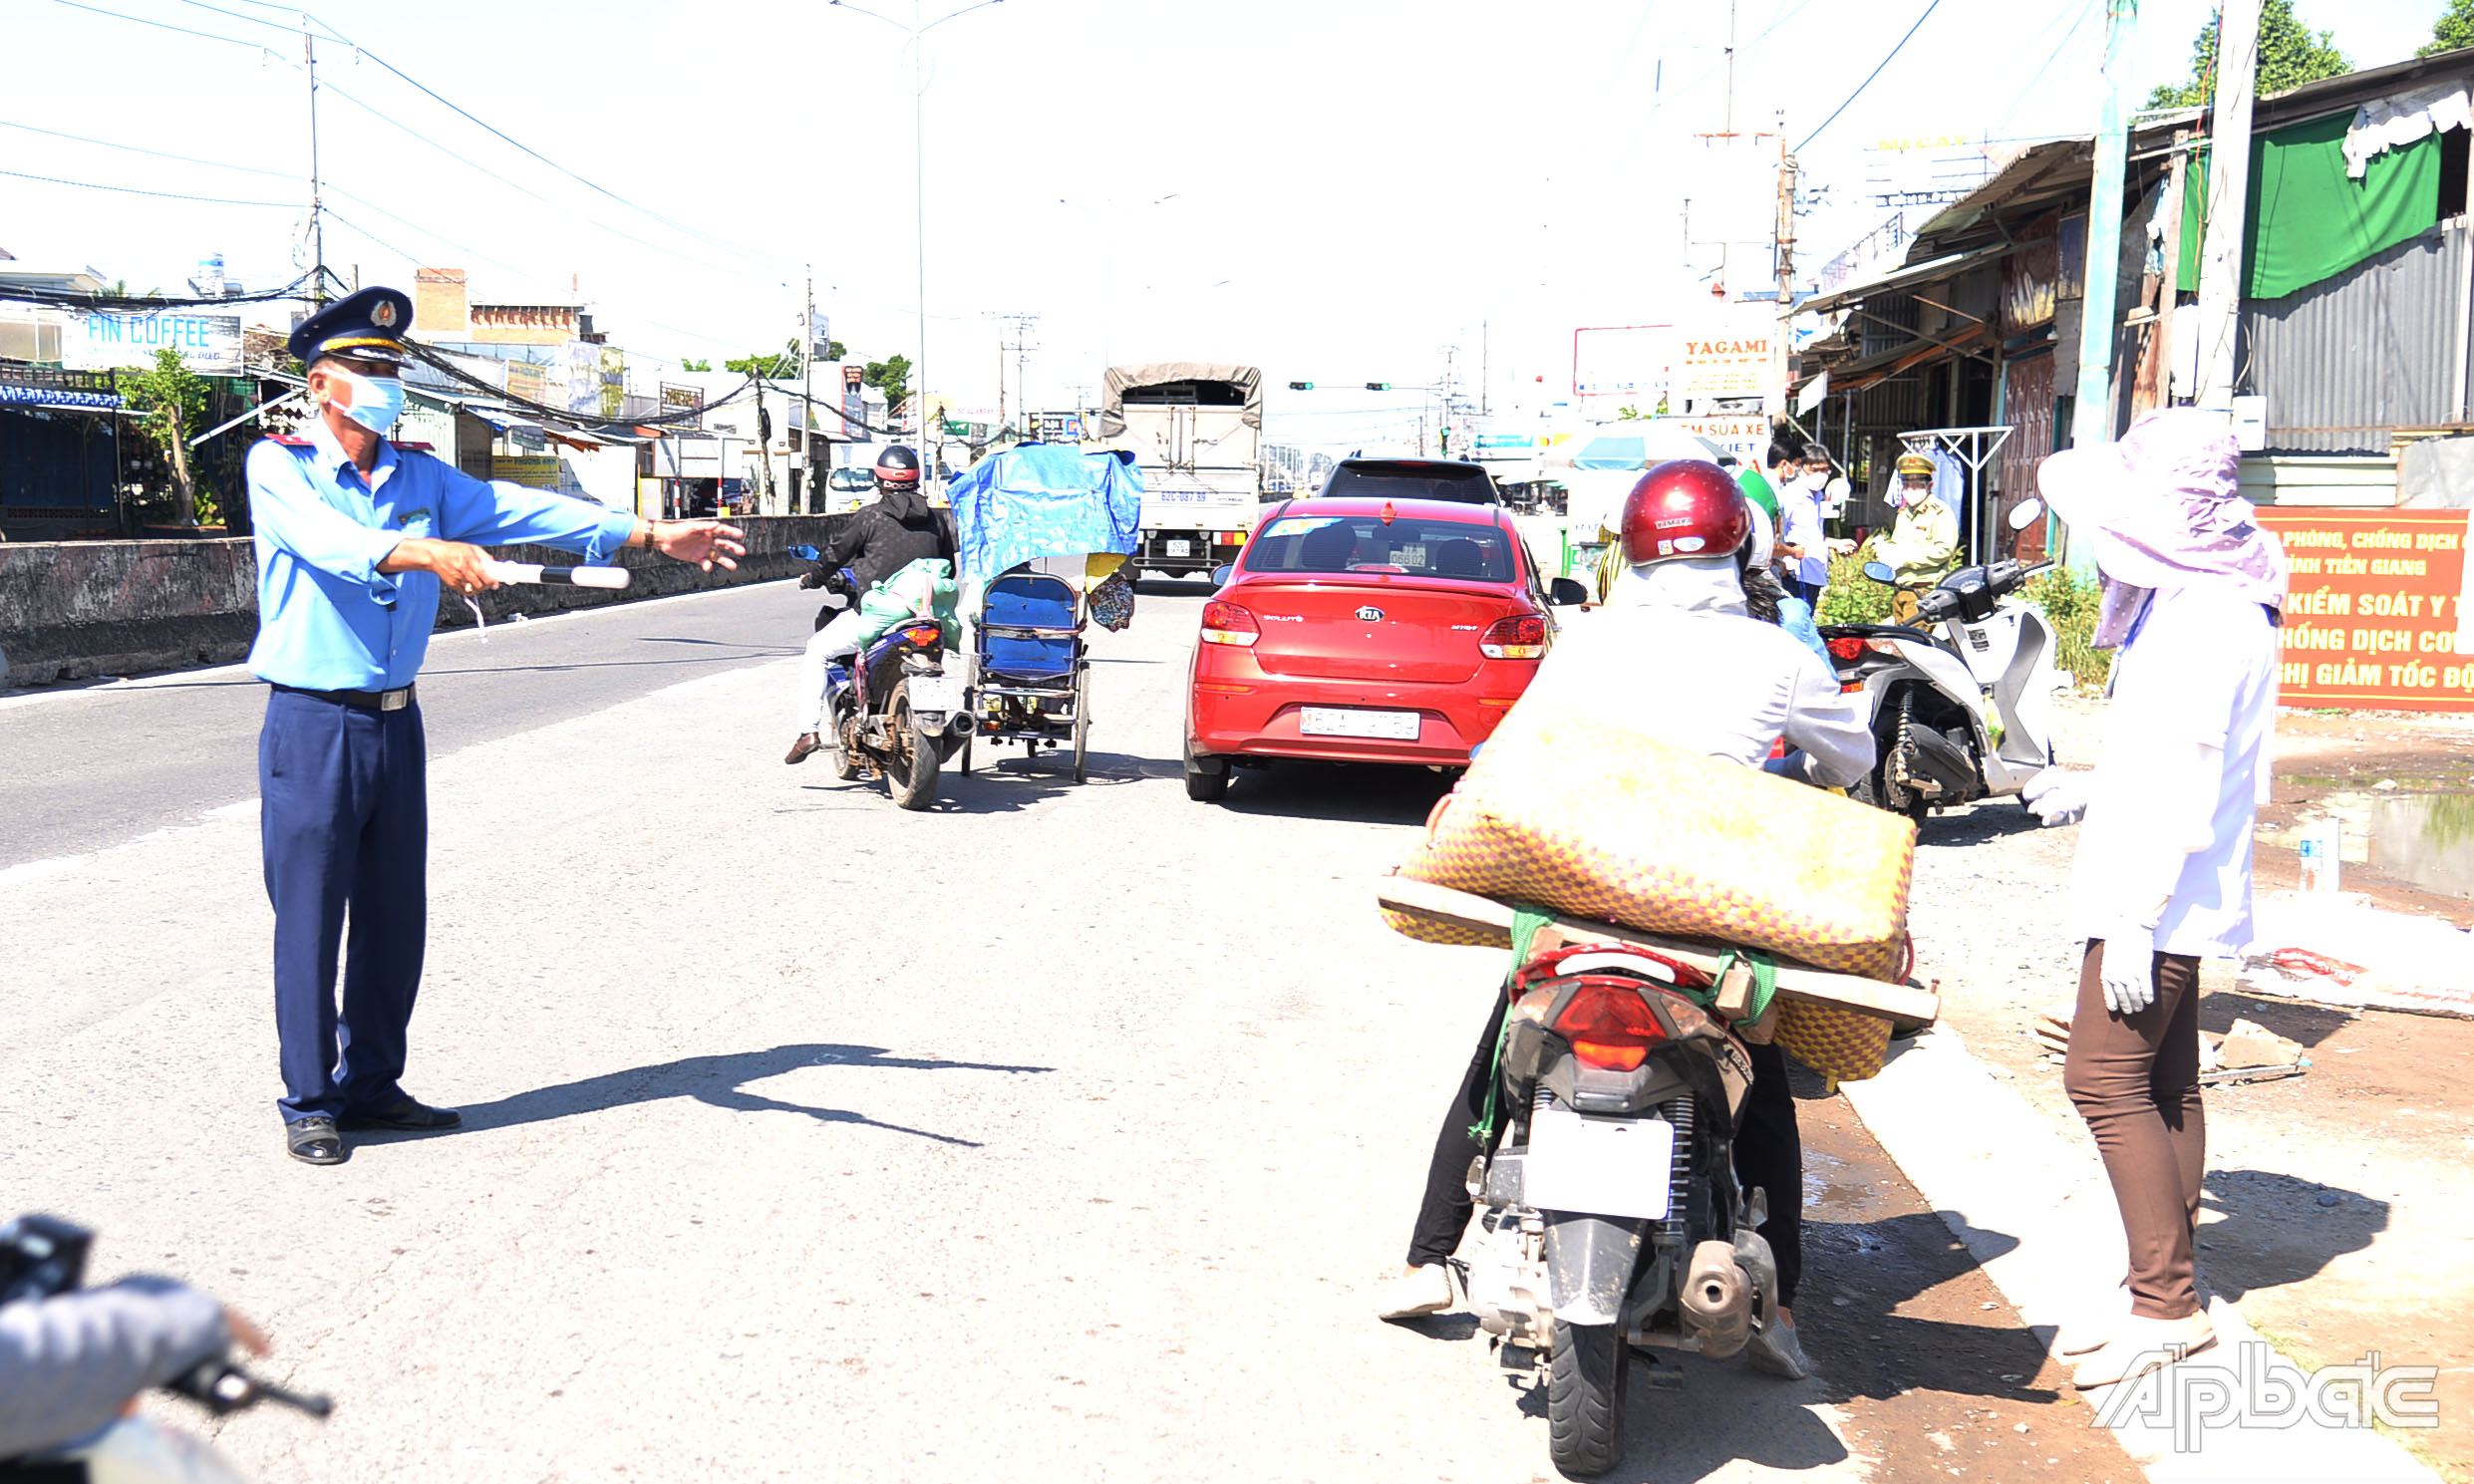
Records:
{"label": "red Kia sedan seen from behind on the road", "polygon": [[1289,500],[1202,606],[1185,794],[1264,757],[1462,767],[1554,643],[1549,603],[1581,599],[1502,507]]}

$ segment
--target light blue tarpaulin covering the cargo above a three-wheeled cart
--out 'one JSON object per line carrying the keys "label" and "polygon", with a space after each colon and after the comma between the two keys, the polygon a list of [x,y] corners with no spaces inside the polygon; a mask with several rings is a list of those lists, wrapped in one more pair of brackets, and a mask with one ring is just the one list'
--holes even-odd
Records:
{"label": "light blue tarpaulin covering the cargo above a three-wheeled cart", "polygon": [[1143,470],[1133,455],[1024,443],[945,485],[962,544],[962,581],[985,581],[1034,556],[1131,556],[1143,529]]}

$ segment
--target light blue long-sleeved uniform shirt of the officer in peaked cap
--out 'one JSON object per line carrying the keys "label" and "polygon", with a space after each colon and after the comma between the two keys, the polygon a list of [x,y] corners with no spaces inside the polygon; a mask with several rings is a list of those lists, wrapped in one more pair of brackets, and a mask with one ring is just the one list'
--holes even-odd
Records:
{"label": "light blue long-sleeved uniform shirt of the officer in peaked cap", "polygon": [[369,480],[322,418],[309,445],[250,450],[257,529],[257,643],[250,670],[302,690],[396,690],[421,673],[438,623],[438,576],[381,574],[406,537],[497,547],[539,542],[604,561],[636,517],[591,500],[475,480],[426,453],[379,443]]}

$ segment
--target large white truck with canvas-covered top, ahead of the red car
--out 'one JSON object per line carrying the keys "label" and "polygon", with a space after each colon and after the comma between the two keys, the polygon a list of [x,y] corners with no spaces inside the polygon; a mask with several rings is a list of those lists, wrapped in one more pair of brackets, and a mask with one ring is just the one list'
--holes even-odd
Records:
{"label": "large white truck with canvas-covered top, ahead of the red car", "polygon": [[1237,559],[1262,505],[1262,371],[1207,361],[1111,366],[1098,440],[1143,470],[1143,549],[1158,576]]}

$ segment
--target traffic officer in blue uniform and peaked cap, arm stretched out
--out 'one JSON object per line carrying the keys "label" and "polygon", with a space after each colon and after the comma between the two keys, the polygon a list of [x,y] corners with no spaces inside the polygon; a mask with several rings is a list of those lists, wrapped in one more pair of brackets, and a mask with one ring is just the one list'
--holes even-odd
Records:
{"label": "traffic officer in blue uniform and peaked cap, arm stretched out", "polygon": [[428,782],[413,678],[438,621],[438,586],[497,586],[482,547],[505,542],[586,561],[653,547],[705,571],[747,554],[742,532],[720,522],[646,522],[475,480],[388,445],[403,411],[411,322],[413,304],[398,289],[361,289],[294,329],[314,408],[307,443],[262,440],[247,465],[257,527],[250,670],[272,685],[257,789],[275,903],[280,1108],[285,1148],[312,1165],[339,1165],[351,1128],[460,1123],[398,1081],[428,927]]}

